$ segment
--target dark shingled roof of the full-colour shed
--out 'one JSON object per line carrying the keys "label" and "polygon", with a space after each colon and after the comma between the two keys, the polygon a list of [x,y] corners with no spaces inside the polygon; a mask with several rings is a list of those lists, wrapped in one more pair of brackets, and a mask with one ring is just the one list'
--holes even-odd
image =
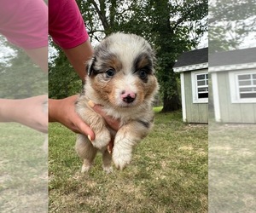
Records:
{"label": "dark shingled roof of the full-colour shed", "polygon": [[181,66],[189,66],[208,62],[208,48],[195,49],[189,52],[184,52],[177,59],[173,68]]}

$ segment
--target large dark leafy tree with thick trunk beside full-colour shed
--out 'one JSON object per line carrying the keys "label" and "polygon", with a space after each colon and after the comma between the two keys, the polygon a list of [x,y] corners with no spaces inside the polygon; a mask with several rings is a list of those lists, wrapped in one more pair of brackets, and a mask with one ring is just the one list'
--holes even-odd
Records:
{"label": "large dark leafy tree with thick trunk beside full-colour shed", "polygon": [[162,111],[175,111],[181,107],[181,103],[178,77],[172,71],[172,66],[183,51],[195,48],[207,30],[207,22],[201,22],[207,15],[207,1],[149,1],[148,6],[159,59],[157,76],[164,103]]}

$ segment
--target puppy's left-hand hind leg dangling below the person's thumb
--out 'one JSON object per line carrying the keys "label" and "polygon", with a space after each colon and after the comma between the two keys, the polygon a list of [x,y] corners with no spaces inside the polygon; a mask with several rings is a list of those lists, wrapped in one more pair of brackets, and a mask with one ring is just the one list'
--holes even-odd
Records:
{"label": "puppy's left-hand hind leg dangling below the person's thumb", "polygon": [[88,138],[84,135],[78,135],[76,141],[76,151],[80,158],[83,159],[83,165],[81,172],[87,172],[93,164],[93,160],[96,157],[97,149],[93,147]]}

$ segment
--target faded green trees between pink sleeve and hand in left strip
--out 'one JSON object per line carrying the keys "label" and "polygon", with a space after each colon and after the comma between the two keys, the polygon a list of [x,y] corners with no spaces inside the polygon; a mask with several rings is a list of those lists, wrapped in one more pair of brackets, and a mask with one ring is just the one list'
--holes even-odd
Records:
{"label": "faded green trees between pink sleeve and hand in left strip", "polygon": [[46,94],[48,78],[26,53],[2,39],[1,45],[13,49],[8,62],[0,63],[0,98],[21,99]]}

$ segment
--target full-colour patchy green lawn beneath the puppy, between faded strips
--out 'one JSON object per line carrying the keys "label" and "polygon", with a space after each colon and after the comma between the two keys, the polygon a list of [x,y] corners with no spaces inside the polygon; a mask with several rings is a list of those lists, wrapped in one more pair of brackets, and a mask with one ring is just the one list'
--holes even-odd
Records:
{"label": "full-colour patchy green lawn beneath the puppy, between faded strips", "polygon": [[158,112],[125,170],[105,174],[99,154],[81,174],[76,136],[50,124],[49,212],[207,212],[207,135],[181,112]]}

